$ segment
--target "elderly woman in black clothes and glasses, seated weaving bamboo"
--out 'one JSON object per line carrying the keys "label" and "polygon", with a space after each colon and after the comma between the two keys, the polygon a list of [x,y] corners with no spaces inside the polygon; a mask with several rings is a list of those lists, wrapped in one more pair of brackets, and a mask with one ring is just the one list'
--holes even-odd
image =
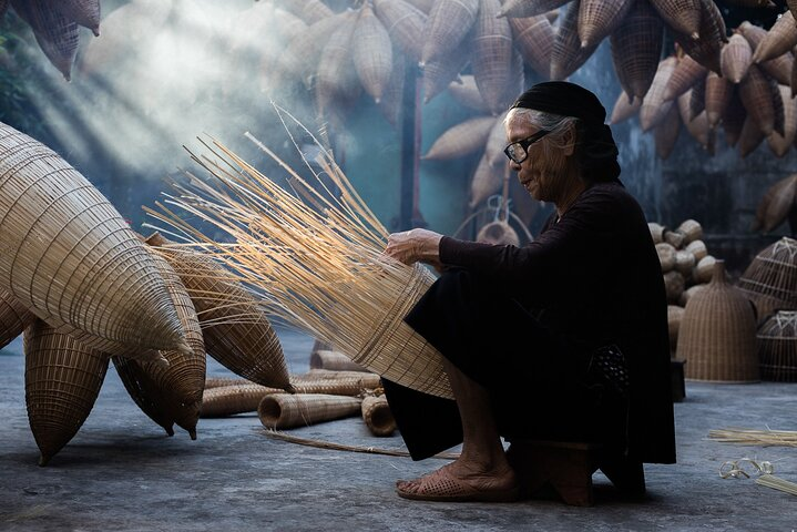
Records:
{"label": "elderly woman in black clothes and glasses, seated weaving bamboo", "polygon": [[399,481],[400,497],[517,499],[500,437],[600,442],[640,471],[675,461],[662,273],[605,116],[566,82],[534,85],[510,109],[511,166],[555,205],[525,247],[390,235],[387,255],[443,272],[405,319],[442,354],[456,397],[385,382],[390,407],[415,460],[462,443],[452,463]]}

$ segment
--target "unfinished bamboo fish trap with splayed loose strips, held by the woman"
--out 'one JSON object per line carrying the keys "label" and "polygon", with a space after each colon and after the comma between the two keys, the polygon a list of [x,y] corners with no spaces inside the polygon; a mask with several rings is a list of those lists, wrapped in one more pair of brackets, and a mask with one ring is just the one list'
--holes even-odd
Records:
{"label": "unfinished bamboo fish trap with splayed loose strips, held by the woman", "polygon": [[[287,113],[275,108],[285,121]],[[258,290],[268,311],[392,381],[451,398],[440,354],[403,323],[431,285],[431,273],[382,255],[387,231],[327,151],[321,149],[317,163],[340,191],[338,197],[317,191],[257,144],[300,192],[286,191],[214,142],[207,146],[213,160],[194,160],[216,186],[194,180],[167,202],[226,232],[234,244],[210,241],[166,206],[149,212]],[[324,187],[319,175],[314,177]]]}

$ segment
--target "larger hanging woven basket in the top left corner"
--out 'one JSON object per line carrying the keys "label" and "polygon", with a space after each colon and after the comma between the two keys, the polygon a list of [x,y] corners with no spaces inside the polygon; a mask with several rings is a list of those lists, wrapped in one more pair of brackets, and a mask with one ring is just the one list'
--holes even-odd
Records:
{"label": "larger hanging woven basket in the top left corner", "polygon": [[33,35],[47,59],[69,81],[78,54],[80,28],[47,0],[11,0],[17,14],[33,29]]}

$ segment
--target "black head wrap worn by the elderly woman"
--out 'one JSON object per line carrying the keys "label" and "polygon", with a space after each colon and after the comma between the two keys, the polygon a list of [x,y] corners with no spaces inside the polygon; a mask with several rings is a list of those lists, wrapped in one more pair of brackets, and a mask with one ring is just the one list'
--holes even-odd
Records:
{"label": "black head wrap worn by the elderly woman", "polygon": [[604,124],[606,110],[597,96],[566,81],[546,81],[532,86],[510,109],[523,108],[579,119],[581,167],[590,181],[617,181],[617,145]]}

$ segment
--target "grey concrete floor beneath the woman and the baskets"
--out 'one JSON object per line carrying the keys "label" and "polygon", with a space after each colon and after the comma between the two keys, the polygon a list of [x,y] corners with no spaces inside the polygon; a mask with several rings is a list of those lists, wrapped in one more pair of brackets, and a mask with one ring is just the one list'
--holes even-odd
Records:
{"label": "grey concrete floor beneath the woman and the baskets", "polygon": [[[308,368],[313,340],[278,331],[293,372]],[[596,504],[555,500],[429,503],[399,499],[397,479],[440,460],[303,447],[264,436],[256,415],[202,419],[198,439],[167,438],[129,398],[113,366],[94,409],[50,466],[24,406],[21,341],[0,351],[0,531],[794,531],[797,499],[753,480],[722,480],[721,464],[743,457],[775,462],[797,481],[797,449],[706,440],[727,427],[797,430],[797,385],[687,383],[676,403],[678,463],[647,466],[645,501],[616,497],[596,473]],[[228,371],[210,361],[208,375]],[[371,437],[358,418],[293,430],[347,444],[401,449],[400,437]]]}

